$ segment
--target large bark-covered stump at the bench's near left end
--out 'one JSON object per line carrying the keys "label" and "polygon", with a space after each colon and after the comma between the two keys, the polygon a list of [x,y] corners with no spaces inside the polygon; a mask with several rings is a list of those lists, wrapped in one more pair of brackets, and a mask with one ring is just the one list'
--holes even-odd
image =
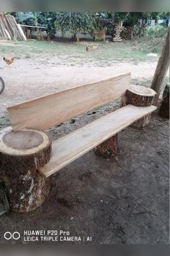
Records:
{"label": "large bark-covered stump at the bench's near left end", "polygon": [[0,131],[0,180],[12,210],[29,212],[39,207],[50,191],[50,180],[38,168],[50,160],[51,141],[45,132],[12,127]]}

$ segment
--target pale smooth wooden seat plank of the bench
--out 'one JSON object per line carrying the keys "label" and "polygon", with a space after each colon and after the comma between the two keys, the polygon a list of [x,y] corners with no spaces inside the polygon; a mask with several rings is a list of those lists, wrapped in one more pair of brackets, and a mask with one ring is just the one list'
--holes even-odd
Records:
{"label": "pale smooth wooden seat plank of the bench", "polygon": [[156,110],[156,106],[138,107],[128,105],[53,141],[50,161],[39,171],[45,176],[54,174],[68,163],[76,160],[104,142],[104,140],[116,135],[122,129],[133,124],[134,121],[154,110]]}

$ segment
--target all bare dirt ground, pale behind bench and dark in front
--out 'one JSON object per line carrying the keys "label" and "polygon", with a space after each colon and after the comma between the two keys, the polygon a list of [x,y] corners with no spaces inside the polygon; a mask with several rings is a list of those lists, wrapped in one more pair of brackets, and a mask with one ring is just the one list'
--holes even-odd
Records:
{"label": "all bare dirt ground, pale behind bench and dark in front", "polygon": [[[71,67],[65,60],[18,59],[11,67],[0,63],[6,88],[0,95],[1,127],[9,125],[6,107],[85,82],[123,72],[151,80],[156,61],[111,67],[83,64]],[[56,139],[118,107],[112,103],[48,130]],[[0,216],[1,243],[6,231],[64,230],[71,236],[91,236],[94,244],[169,243],[169,120],[153,114],[143,129],[128,127],[119,134],[118,158],[101,158],[93,150],[51,177],[50,195],[32,213]],[[60,242],[58,242],[60,243]],[[88,243],[88,242],[85,242]]]}

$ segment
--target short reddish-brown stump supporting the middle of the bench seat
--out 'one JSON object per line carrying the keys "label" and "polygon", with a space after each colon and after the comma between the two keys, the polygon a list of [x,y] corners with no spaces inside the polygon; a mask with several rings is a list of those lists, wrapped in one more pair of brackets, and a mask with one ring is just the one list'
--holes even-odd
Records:
{"label": "short reddish-brown stump supporting the middle of the bench seat", "polygon": [[94,153],[99,156],[104,156],[104,158],[110,157],[110,156],[117,156],[117,141],[118,141],[118,135],[112,136],[108,140],[105,140],[100,145],[98,145],[96,148],[94,148]]}

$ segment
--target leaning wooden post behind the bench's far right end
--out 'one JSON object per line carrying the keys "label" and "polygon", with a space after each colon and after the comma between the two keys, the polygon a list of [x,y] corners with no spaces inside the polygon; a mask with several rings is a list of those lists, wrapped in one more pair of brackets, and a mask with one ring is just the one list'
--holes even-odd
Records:
{"label": "leaning wooden post behind the bench's far right end", "polygon": [[152,84],[151,84],[151,88],[155,90],[157,93],[155,98],[155,103],[157,103],[158,97],[161,93],[162,84],[164,82],[164,78],[166,77],[166,72],[168,68],[169,68],[169,28],[168,28],[168,33],[166,35],[164,46],[161,51],[161,56],[158,60],[156,72],[154,74]]}

